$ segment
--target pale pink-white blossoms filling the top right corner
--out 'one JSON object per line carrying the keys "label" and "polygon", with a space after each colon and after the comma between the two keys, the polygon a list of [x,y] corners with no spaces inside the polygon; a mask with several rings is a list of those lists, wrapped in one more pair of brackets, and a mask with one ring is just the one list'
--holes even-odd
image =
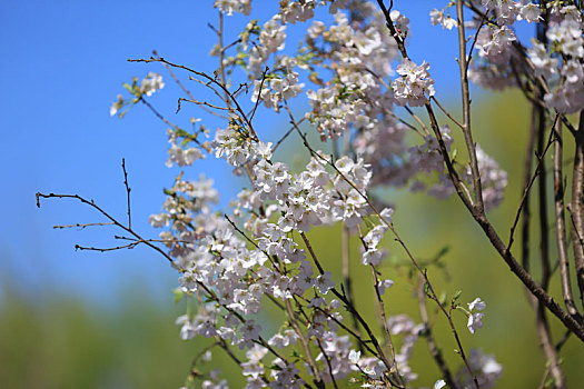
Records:
{"label": "pale pink-white blossoms filling the top right corner", "polygon": [[[531,74],[529,82],[548,89],[544,97],[548,108],[574,113],[584,107],[584,24],[576,6],[566,1],[548,1],[545,6],[513,0],[475,0],[474,3],[482,12],[491,12],[494,19],[478,31],[479,60],[471,62],[471,80],[482,87],[503,89],[522,87],[526,80],[519,74]],[[540,22],[544,17],[547,29],[543,41],[533,39],[531,47],[525,47],[517,40],[513,24]],[[434,10],[430,19],[433,24],[454,26],[444,16],[444,9]],[[477,16],[469,26],[477,28],[479,20]]]}

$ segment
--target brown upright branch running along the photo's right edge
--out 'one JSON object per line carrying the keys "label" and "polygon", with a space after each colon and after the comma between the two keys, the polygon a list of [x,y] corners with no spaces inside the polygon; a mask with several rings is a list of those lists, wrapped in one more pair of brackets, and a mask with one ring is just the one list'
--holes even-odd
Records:
{"label": "brown upright branch running along the photo's right edge", "polygon": [[574,171],[572,177],[572,247],[574,249],[574,263],[576,280],[580,289],[580,299],[584,307],[584,110],[580,111],[578,129],[574,136],[576,147],[574,152]]}

